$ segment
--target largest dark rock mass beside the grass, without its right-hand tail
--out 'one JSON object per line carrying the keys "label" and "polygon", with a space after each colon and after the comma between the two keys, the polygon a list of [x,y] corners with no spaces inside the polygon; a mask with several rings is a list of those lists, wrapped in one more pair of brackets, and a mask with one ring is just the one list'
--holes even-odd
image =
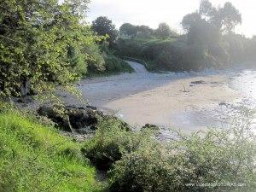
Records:
{"label": "largest dark rock mass beside the grass, without its right-hand tail", "polygon": [[38,113],[52,119],[63,131],[82,133],[88,132],[88,130],[95,131],[98,118],[102,116],[101,112],[91,108],[57,105],[40,107]]}

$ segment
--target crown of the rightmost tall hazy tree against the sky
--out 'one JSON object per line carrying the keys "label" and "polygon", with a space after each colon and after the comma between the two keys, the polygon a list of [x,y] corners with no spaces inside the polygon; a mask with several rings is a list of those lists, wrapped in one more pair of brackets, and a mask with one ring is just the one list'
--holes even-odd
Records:
{"label": "crown of the rightmost tall hazy tree against the sky", "polygon": [[219,10],[221,15],[224,32],[230,34],[235,29],[236,25],[241,24],[241,14],[232,3],[227,2],[224,8]]}

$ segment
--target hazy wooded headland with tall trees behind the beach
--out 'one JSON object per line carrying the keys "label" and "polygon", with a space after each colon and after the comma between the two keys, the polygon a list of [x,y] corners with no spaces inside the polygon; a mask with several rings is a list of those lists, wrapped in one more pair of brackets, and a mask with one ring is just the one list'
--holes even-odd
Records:
{"label": "hazy wooded headland with tall trees behind the beach", "polygon": [[125,23],[116,50],[121,56],[146,61],[154,71],[201,70],[255,61],[255,38],[234,32],[241,15],[231,3],[215,8],[201,1],[200,8],[185,15],[181,24],[185,34],[177,36],[166,24],[140,32],[139,26]]}

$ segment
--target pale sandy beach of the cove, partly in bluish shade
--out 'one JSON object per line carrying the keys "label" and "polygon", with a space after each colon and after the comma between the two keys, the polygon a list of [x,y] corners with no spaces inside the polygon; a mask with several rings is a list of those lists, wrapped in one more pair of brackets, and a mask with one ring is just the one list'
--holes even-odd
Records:
{"label": "pale sandy beach of the cove, partly in bluish shade", "polygon": [[219,126],[223,114],[216,111],[221,104],[241,100],[224,72],[148,73],[142,65],[129,63],[136,73],[85,79],[79,89],[92,105],[134,126],[150,123],[185,131]]}

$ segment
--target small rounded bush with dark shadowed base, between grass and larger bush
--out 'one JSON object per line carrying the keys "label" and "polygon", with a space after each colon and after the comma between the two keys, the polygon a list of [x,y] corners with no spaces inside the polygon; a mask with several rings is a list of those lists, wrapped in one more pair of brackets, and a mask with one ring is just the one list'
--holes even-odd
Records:
{"label": "small rounded bush with dark shadowed base, between grass and larger bush", "polygon": [[131,153],[143,143],[147,134],[133,133],[119,119],[102,119],[96,136],[84,145],[83,152],[100,170],[109,170],[125,153]]}

